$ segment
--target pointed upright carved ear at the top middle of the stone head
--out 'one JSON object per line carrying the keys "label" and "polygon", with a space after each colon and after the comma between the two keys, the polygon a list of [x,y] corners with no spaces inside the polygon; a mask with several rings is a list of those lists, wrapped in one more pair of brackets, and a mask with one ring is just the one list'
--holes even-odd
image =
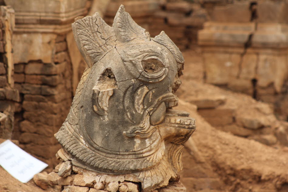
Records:
{"label": "pointed upright carved ear at the top middle of the stone head", "polygon": [[125,8],[121,5],[115,15],[113,28],[118,41],[128,42],[136,38],[147,38],[145,29],[137,25]]}

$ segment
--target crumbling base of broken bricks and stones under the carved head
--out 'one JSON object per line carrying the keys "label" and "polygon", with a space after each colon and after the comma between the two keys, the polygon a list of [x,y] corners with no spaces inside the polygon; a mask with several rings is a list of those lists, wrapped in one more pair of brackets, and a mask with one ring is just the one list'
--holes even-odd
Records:
{"label": "crumbling base of broken bricks and stones under the carved head", "polygon": [[[134,174],[104,174],[89,171],[72,165],[60,150],[57,153],[61,162],[53,172],[48,174],[50,185],[59,185],[62,192],[139,192],[141,181]],[[62,158],[59,156],[62,156]],[[65,161],[65,160],[66,161]],[[156,177],[156,175],[155,175]],[[186,188],[179,181],[171,181],[166,187],[151,192],[186,192]]]}

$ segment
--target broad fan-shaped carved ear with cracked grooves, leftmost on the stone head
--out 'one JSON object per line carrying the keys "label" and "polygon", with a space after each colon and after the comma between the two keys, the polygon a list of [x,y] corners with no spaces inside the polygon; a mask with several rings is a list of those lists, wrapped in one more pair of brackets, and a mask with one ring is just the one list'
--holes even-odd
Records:
{"label": "broad fan-shaped carved ear with cracked grooves, leftmost on the stone head", "polygon": [[74,38],[87,65],[92,67],[115,46],[115,33],[98,13],[72,24]]}

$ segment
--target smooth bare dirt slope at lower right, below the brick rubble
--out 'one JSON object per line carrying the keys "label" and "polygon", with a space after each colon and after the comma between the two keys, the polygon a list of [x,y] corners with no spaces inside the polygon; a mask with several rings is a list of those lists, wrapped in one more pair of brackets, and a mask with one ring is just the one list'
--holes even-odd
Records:
{"label": "smooth bare dirt slope at lower right, below the brick rubble", "polygon": [[[223,184],[220,186],[223,191],[288,191],[287,151],[219,131],[197,114],[194,110],[195,106],[188,102],[180,100],[177,108],[189,111],[190,116],[196,118],[197,128],[192,139],[197,146],[198,155],[202,156],[205,162],[218,174],[218,178]],[[183,163],[188,165],[190,162],[185,161]],[[194,166],[191,166],[190,172],[193,169]],[[187,166],[184,171],[189,171]],[[182,178],[182,182],[186,186],[189,185],[185,182],[185,177]],[[220,187],[219,190],[221,190]],[[209,191],[209,188],[204,189]],[[204,189],[189,190],[201,191]],[[211,190],[215,190],[215,188]]]}

